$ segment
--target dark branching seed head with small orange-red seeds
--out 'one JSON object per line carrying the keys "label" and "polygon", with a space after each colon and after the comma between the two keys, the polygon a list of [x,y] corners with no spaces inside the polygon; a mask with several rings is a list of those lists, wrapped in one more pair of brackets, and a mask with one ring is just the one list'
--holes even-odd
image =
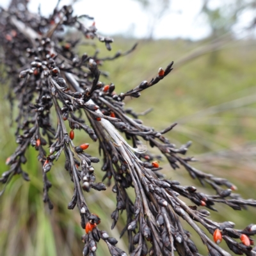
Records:
{"label": "dark branching seed head with small orange-red seeds", "polygon": [[[184,157],[191,143],[177,148],[164,136],[176,124],[163,131],[154,131],[138,119],[145,113],[125,109],[125,97],[140,97],[143,90],[170,74],[173,62],[164,69],[159,68],[151,81],[142,81],[129,92],[116,94],[114,84],[100,82],[100,76],[106,76],[106,72],[99,67],[104,61],[128,54],[136,45],[130,51],[117,52],[109,58],[99,58],[97,52],[93,56],[78,56],[74,50],[79,40],[65,40],[65,34],[61,34],[67,27],[76,28],[86,38],[97,38],[109,51],[113,40],[99,35],[94,22],[92,26],[84,26],[82,18],[92,17],[77,17],[72,6],[56,6],[52,15],[46,18],[40,12],[29,13],[26,4],[26,1],[13,0],[8,10],[1,8],[0,12],[0,43],[4,50],[1,61],[10,80],[8,97],[12,105],[13,102],[19,104],[15,133],[18,146],[6,160],[10,168],[0,181],[6,184],[17,174],[29,180],[22,164],[26,163],[25,153],[31,145],[38,150],[38,161],[42,164],[43,199],[52,209],[54,205],[48,195],[52,184],[47,179],[47,172],[61,153],[65,154],[65,169],[74,182],[74,195],[68,209],[77,205],[81,214],[81,227],[85,230],[83,255],[96,255],[100,239],[108,245],[111,255],[127,255],[128,252],[116,246],[118,241],[114,237],[99,229],[100,217],[92,214],[86,204],[83,191],[101,191],[106,186],[95,179],[93,163],[99,162],[99,158],[86,153],[89,143],[73,143],[76,130],[83,130],[99,144],[102,172],[105,173],[103,180],[108,186],[111,180],[113,182],[116,209],[111,214],[111,228],[115,227],[120,212],[127,212],[127,224],[121,236],[127,233],[131,255],[174,255],[174,252],[200,255],[180,220],[195,229],[211,256],[230,255],[218,245],[222,240],[237,255],[256,255],[256,248],[252,247],[256,225],[237,230],[235,223],[230,221],[212,221],[207,211],[216,211],[216,203],[241,210],[247,205],[256,206],[256,201],[244,200],[232,193],[236,186],[228,180],[193,168],[189,164],[193,158]],[[52,113],[57,117],[56,122],[51,118]],[[195,186],[182,186],[177,180],[164,179],[157,157],[148,151],[143,141],[158,148],[173,169],[183,166],[193,179],[211,186],[216,195],[206,195],[198,192]],[[46,146],[49,154],[45,151]],[[127,188],[134,189],[135,202],[129,197]],[[185,204],[181,196],[193,205]],[[198,209],[198,206],[203,208]],[[212,237],[209,238],[197,223]]]}

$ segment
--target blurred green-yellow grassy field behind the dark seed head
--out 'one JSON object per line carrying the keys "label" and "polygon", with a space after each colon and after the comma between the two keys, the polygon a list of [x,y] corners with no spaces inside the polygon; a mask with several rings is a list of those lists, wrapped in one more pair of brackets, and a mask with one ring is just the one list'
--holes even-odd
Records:
{"label": "blurred green-yellow grassy field behind the dark seed head", "polygon": [[[207,10],[207,2],[203,7],[209,12],[211,8]],[[204,8],[202,12],[206,12]],[[116,36],[111,52],[98,43],[97,46],[81,45],[77,52],[93,53],[97,48],[101,56],[113,56],[116,51],[126,51],[138,42],[134,52],[115,61],[106,61],[101,68],[109,72],[109,77],[101,81],[114,83],[118,93],[134,88],[142,80],[150,80],[159,67],[166,67],[173,60],[172,74],[145,90],[140,99],[127,100],[127,108],[132,107],[137,112],[154,108],[148,115],[141,116],[141,120],[156,130],[177,122],[178,125],[168,134],[168,138],[177,145],[193,141],[188,155],[198,159],[194,163],[196,168],[234,182],[237,193],[244,198],[256,198],[255,38],[246,36],[237,39],[232,33],[227,33],[236,22],[224,28],[230,19],[225,15],[219,16],[209,21],[213,26],[216,20],[223,19],[219,28],[213,26],[212,35],[198,42],[152,40],[149,33],[150,38],[145,40]],[[218,29],[222,29],[220,35]],[[16,144],[13,136],[15,123],[10,127],[10,106],[4,99],[8,86],[2,85],[2,92],[0,170],[4,172],[7,170],[5,160],[12,154]],[[97,143],[93,145],[83,132],[76,132],[75,144],[79,141],[90,143],[90,154],[98,154]],[[64,169],[63,159],[60,158],[49,173],[52,182],[49,195],[54,204],[54,209],[49,211],[42,202],[42,171],[36,157],[37,152],[30,148],[25,170],[31,181],[25,182],[20,177],[14,177],[0,198],[0,255],[81,255],[83,243],[80,237],[84,230],[80,226],[77,209],[67,209],[73,185]],[[95,164],[97,180],[102,179],[100,164]],[[191,180],[185,170],[172,170],[164,159],[160,164],[166,177],[177,179],[183,185],[193,184],[205,193],[212,192],[209,188],[202,188],[198,181]],[[116,204],[115,195],[112,194],[111,187],[100,194],[90,191],[86,200],[91,211],[102,219],[100,228],[107,230],[110,236],[118,237],[124,227],[125,213],[111,230],[110,214]],[[252,207],[248,211],[234,211],[226,205],[217,205],[217,209],[218,212],[211,211],[211,218],[233,221],[236,228],[256,222],[256,209]],[[193,230],[189,231],[194,236],[193,241],[198,246],[201,244],[200,253],[206,255],[206,248],[199,237]],[[125,241],[124,236],[118,241],[118,246],[127,252]],[[106,255],[105,244],[100,244],[102,247],[99,246],[98,255]],[[225,247],[225,244],[221,246]]]}

